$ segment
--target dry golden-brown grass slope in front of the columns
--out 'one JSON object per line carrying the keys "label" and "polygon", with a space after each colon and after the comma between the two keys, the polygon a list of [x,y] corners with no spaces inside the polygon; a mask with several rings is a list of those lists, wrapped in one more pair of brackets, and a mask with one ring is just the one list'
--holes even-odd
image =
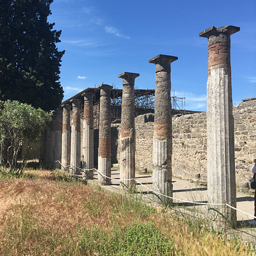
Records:
{"label": "dry golden-brown grass slope in front of the columns", "polygon": [[[170,251],[158,255],[250,255],[243,243],[236,245],[157,212],[136,198],[109,194],[56,172],[27,171],[26,175],[0,179],[0,255],[129,255],[126,247],[122,252],[113,250],[127,246],[125,236],[134,234],[129,228],[136,223],[152,223],[148,232],[159,230],[164,237]],[[140,228],[131,236],[150,243]],[[104,244],[113,248],[107,250]]]}

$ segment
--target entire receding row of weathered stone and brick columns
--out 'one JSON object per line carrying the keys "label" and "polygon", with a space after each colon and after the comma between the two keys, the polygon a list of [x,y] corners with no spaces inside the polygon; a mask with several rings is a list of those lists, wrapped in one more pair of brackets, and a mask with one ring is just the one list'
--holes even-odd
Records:
{"label": "entire receding row of weathered stone and brick columns", "polygon": [[[211,204],[227,204],[236,207],[236,177],[234,166],[234,118],[232,115],[232,88],[230,67],[230,35],[239,31],[234,26],[211,27],[199,35],[208,38],[207,81],[207,182],[208,201]],[[155,115],[153,138],[153,188],[157,202],[172,203],[172,109],[171,63],[178,58],[160,54],[149,63],[155,64]],[[120,179],[123,188],[131,189],[135,178],[135,128],[134,128],[134,80],[140,74],[124,72],[122,78],[122,116],[120,132]],[[112,86],[101,84],[99,112],[98,181],[111,184],[111,102]],[[93,99],[84,95],[83,119],[83,177],[92,179],[93,171]],[[72,100],[63,106],[61,162],[70,171],[79,173],[81,161],[80,102]],[[70,131],[71,127],[71,131]],[[71,135],[70,135],[71,133]],[[51,136],[51,134],[50,134]],[[58,134],[60,136],[60,134]],[[71,143],[69,142],[71,141]],[[70,143],[70,144],[69,144]],[[70,153],[69,153],[70,151]],[[166,196],[169,197],[166,197]],[[209,207],[212,220],[218,219],[223,207]],[[217,211],[216,211],[217,210]],[[227,208],[227,218],[236,225],[236,211]]]}

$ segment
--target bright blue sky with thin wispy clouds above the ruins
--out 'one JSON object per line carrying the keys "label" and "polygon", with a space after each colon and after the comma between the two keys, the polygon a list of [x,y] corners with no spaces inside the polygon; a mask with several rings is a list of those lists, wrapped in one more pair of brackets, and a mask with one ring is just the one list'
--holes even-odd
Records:
{"label": "bright blue sky with thin wispy clouds above the ruins", "polygon": [[66,100],[88,87],[122,88],[122,72],[139,73],[135,87],[154,89],[158,54],[171,65],[172,95],[186,109],[206,111],[207,38],[211,26],[238,26],[231,36],[233,104],[256,97],[255,0],[54,0],[49,22],[62,31],[61,85]]}

